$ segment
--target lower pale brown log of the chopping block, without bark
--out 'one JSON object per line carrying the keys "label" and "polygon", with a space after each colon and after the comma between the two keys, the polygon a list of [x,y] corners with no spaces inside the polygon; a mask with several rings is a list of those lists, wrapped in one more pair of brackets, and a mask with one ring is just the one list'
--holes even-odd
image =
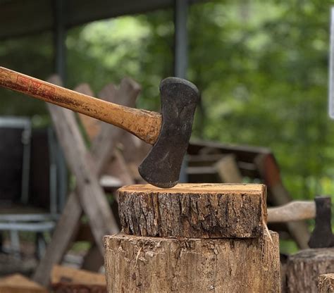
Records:
{"label": "lower pale brown log of the chopping block, without bark", "polygon": [[271,237],[106,236],[108,292],[280,292],[278,235]]}

